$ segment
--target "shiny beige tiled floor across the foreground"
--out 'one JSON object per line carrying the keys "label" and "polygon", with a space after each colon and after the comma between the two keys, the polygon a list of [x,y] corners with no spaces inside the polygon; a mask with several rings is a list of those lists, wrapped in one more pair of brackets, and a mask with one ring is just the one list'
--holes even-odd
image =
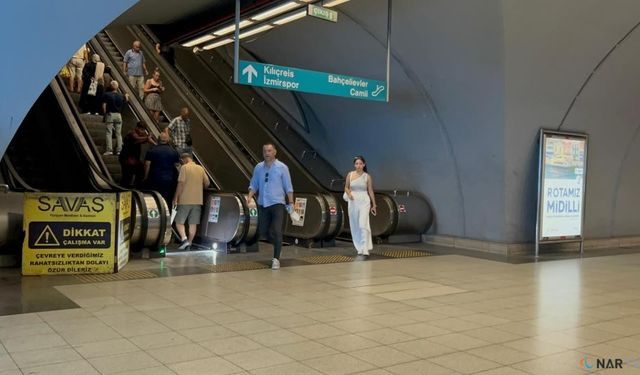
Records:
{"label": "shiny beige tiled floor across the foreground", "polygon": [[442,255],[62,285],[80,308],[0,317],[0,375],[640,373],[639,270]]}

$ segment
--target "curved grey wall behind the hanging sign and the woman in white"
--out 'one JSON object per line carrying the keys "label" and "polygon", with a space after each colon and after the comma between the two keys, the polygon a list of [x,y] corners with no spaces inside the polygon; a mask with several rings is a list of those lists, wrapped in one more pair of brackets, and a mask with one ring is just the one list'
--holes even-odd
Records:
{"label": "curved grey wall behind the hanging sign and the woman in white", "polygon": [[[340,22],[305,19],[244,46],[266,61],[384,79],[385,0],[341,6]],[[377,188],[429,197],[435,231],[504,238],[501,3],[395,1],[390,103],[305,95],[309,137],[346,173],[368,161]]]}

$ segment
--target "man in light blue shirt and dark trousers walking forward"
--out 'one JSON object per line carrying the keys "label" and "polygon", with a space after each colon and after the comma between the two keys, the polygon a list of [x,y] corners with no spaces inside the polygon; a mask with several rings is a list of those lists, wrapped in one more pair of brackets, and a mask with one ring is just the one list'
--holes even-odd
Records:
{"label": "man in light blue shirt and dark trousers walking forward", "polygon": [[[289,168],[276,159],[276,148],[267,143],[262,146],[264,161],[258,163],[253,170],[249,185],[250,202],[254,195],[258,195],[258,229],[261,236],[268,234],[269,242],[273,245],[273,260],[271,269],[280,268],[280,250],[282,248],[282,225],[285,207],[287,212],[293,211],[293,186]],[[285,206],[285,195],[289,204]]]}

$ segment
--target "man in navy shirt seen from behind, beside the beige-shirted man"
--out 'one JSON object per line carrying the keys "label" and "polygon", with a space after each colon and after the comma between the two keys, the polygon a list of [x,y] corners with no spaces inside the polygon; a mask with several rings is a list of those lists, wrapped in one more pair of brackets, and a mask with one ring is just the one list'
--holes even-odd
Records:
{"label": "man in navy shirt seen from behind, beside the beige-shirted man", "polygon": [[169,145],[169,140],[167,133],[160,133],[158,145],[147,151],[144,161],[147,187],[160,193],[167,206],[173,201],[180,165],[180,155]]}

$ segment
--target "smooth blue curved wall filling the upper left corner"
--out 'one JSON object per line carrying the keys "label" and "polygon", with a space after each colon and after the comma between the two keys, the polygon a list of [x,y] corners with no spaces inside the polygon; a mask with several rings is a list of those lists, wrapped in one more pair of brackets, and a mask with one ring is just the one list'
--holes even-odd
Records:
{"label": "smooth blue curved wall filling the upper left corner", "polygon": [[136,1],[2,2],[0,155],[4,154],[33,102],[69,57]]}

